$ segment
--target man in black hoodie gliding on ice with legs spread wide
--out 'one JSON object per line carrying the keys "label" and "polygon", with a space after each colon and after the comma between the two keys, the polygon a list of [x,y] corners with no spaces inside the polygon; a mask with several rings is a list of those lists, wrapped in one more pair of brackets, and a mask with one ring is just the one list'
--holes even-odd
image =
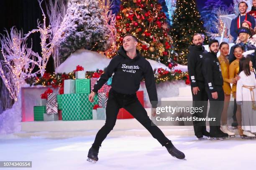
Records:
{"label": "man in black hoodie gliding on ice with legs spread wide", "polygon": [[[118,55],[110,61],[105,73],[97,80],[89,95],[89,100],[92,102],[95,93],[108,81],[114,72],[106,107],[106,122],[98,131],[95,141],[89,150],[89,161],[95,162],[98,160],[97,155],[101,143],[107,137],[108,133],[113,130],[118,111],[122,107],[130,112],[162,146],[165,146],[172,156],[178,159],[185,158],[184,153],[177,150],[172,145],[172,142],[165,137],[164,133],[153,124],[146,110],[138,101],[136,91],[139,89],[142,78],[145,79],[151,104],[154,103],[153,101],[157,101],[157,93],[153,69],[150,63],[136,50],[137,44],[137,39],[133,35],[124,36],[123,46],[119,48]],[[152,115],[155,116],[156,104],[152,105],[152,108]]]}

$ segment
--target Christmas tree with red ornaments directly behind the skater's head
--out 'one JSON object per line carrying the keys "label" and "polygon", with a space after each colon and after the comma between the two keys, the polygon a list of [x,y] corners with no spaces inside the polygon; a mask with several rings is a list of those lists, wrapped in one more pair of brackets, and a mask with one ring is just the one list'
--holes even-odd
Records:
{"label": "Christmas tree with red ornaments directly behind the skater's head", "polygon": [[162,62],[169,68],[176,65],[169,25],[157,0],[121,0],[116,20],[117,47],[129,33],[138,38],[138,50],[143,57]]}

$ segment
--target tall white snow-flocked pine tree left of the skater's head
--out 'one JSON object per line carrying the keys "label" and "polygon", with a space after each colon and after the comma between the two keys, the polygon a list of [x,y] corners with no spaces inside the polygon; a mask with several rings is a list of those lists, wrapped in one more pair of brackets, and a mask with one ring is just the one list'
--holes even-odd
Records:
{"label": "tall white snow-flocked pine tree left of the skater's head", "polygon": [[81,48],[105,51],[111,46],[111,30],[105,25],[104,10],[99,3],[99,0],[69,0],[67,12],[71,24],[64,30],[59,45],[60,62]]}

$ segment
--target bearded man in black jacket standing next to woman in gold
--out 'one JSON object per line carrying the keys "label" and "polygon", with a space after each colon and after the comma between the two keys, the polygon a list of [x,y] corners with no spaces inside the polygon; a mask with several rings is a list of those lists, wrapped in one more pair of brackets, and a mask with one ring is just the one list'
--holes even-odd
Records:
{"label": "bearded man in black jacket standing next to woman in gold", "polygon": [[220,130],[220,117],[224,105],[223,77],[221,74],[220,63],[217,58],[219,51],[218,40],[209,42],[210,52],[203,54],[203,75],[205,78],[205,89],[210,101],[208,116],[213,118],[209,121],[211,138],[228,138],[227,133]]}

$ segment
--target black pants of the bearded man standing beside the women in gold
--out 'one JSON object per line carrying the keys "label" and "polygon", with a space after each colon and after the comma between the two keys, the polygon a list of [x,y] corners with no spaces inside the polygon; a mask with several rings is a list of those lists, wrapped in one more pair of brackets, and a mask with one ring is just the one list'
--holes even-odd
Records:
{"label": "black pants of the bearded man standing beside the women in gold", "polygon": [[[206,87],[206,88],[209,88],[209,87]],[[210,92],[210,90],[206,90],[209,98],[209,102],[210,102],[208,117],[215,118],[215,121],[209,121],[210,127],[220,126],[220,118],[221,118],[221,113],[223,111],[223,106],[224,106],[225,96],[224,96],[224,91],[222,86],[215,86],[215,89],[217,90],[217,93],[218,93],[217,99],[213,99],[212,93]],[[210,128],[210,131],[211,131],[211,128]]]}

